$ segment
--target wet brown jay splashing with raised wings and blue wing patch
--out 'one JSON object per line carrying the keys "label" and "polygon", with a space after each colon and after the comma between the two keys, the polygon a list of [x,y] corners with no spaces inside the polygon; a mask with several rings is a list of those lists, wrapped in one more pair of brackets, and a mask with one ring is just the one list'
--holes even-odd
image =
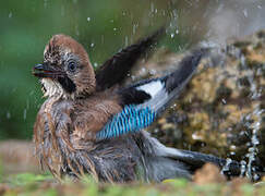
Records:
{"label": "wet brown jay splashing with raised wings and blue wing patch", "polygon": [[145,131],[176,99],[208,49],[196,48],[176,71],[124,86],[137,60],[156,46],[161,27],[120,50],[94,71],[84,47],[70,36],[53,35],[44,61],[33,68],[44,96],[34,124],[35,154],[56,179],[92,175],[98,182],[162,182],[192,179],[204,163],[239,175],[237,161],[166,147]]}

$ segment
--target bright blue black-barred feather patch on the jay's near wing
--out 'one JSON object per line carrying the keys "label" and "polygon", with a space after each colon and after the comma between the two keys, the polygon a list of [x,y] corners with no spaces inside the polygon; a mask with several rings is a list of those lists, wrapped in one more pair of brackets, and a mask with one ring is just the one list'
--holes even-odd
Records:
{"label": "bright blue black-barred feather patch on the jay's near wing", "polygon": [[116,114],[107,125],[97,133],[97,139],[118,137],[127,133],[135,133],[149,126],[156,118],[156,113],[146,108],[138,108],[135,105],[129,105]]}

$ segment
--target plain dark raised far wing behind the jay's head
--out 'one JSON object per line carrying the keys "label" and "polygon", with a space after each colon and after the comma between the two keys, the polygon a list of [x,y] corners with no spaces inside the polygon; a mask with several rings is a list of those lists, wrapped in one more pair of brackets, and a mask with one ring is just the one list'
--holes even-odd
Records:
{"label": "plain dark raised far wing behind the jay's head", "polygon": [[165,28],[161,27],[150,36],[122,49],[107,60],[96,72],[97,90],[104,90],[122,82],[136,61],[157,42],[164,32]]}

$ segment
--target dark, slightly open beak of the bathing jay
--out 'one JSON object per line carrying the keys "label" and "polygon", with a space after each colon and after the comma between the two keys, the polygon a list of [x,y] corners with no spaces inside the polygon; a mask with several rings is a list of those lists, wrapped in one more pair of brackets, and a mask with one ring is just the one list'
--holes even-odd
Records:
{"label": "dark, slightly open beak of the bathing jay", "polygon": [[36,64],[33,68],[33,75],[36,77],[49,77],[49,78],[56,78],[63,75],[63,72],[61,72],[58,69],[55,69],[49,63],[43,63],[43,64]]}

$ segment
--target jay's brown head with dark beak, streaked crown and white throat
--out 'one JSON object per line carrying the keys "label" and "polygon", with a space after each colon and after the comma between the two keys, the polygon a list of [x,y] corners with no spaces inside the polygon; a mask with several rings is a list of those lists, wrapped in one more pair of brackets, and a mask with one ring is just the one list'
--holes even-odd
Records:
{"label": "jay's brown head with dark beak, streaked crown and white throat", "polygon": [[33,68],[45,96],[76,98],[95,90],[96,79],[85,49],[73,38],[55,35],[44,51],[44,62]]}

